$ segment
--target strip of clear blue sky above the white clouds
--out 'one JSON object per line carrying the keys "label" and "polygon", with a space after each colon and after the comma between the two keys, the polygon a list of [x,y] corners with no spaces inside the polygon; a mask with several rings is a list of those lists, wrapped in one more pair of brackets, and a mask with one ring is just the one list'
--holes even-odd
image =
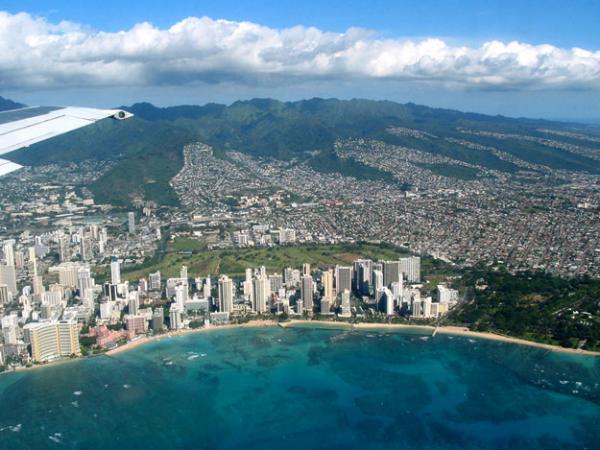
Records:
{"label": "strip of clear blue sky above the white clouds", "polygon": [[443,36],[467,42],[516,39],[600,48],[597,0],[4,0],[1,9],[105,31],[127,29],[142,21],[164,28],[188,16],[209,16],[275,28],[301,24],[341,32],[357,26],[400,37]]}

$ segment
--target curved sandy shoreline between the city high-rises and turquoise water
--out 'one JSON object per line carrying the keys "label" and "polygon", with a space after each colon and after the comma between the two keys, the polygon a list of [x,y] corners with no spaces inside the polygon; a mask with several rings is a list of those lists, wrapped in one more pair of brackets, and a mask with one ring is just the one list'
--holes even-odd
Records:
{"label": "curved sandy shoreline between the city high-rises and turquoise water", "polygon": [[177,331],[169,331],[164,334],[158,334],[154,336],[142,336],[136,340],[128,341],[127,343],[115,347],[111,350],[108,350],[104,353],[83,356],[72,359],[62,359],[53,362],[49,362],[46,364],[36,364],[31,367],[18,367],[14,370],[6,370],[0,373],[1,375],[9,374],[9,373],[19,373],[19,372],[27,372],[30,370],[38,370],[46,367],[56,367],[62,364],[67,364],[74,361],[80,361],[82,359],[87,358],[96,358],[99,356],[114,356],[119,353],[128,352],[130,350],[134,350],[138,347],[141,347],[150,342],[157,342],[163,339],[171,339],[173,337],[185,336],[188,334],[198,334],[198,333],[207,333],[213,330],[228,330],[228,329],[238,329],[238,328],[267,328],[267,327],[276,327],[279,326],[281,328],[294,328],[295,325],[313,327],[313,328],[327,328],[330,329],[347,329],[347,330],[421,330],[428,331],[431,333],[431,336],[435,334],[444,334],[444,335],[452,335],[452,336],[464,336],[471,337],[476,339],[485,339],[496,342],[504,342],[513,345],[524,345],[528,347],[535,347],[544,350],[548,350],[556,353],[564,353],[571,355],[581,355],[581,356],[600,356],[600,351],[592,351],[592,350],[583,350],[583,349],[575,349],[575,348],[566,348],[560,347],[558,345],[544,344],[542,342],[528,341],[526,339],[505,336],[502,334],[496,334],[491,332],[482,332],[482,331],[471,331],[465,327],[458,326],[442,326],[435,327],[433,325],[409,325],[409,324],[399,324],[399,323],[350,323],[350,322],[337,322],[334,320],[290,320],[288,322],[276,322],[274,320],[251,320],[246,323],[241,324],[228,324],[228,325],[213,325],[209,327],[200,327],[193,329],[184,329]]}

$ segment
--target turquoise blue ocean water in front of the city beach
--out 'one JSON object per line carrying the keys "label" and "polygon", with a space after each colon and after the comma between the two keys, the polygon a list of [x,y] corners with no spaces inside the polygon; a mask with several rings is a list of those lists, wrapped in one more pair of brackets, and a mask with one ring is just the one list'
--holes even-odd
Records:
{"label": "turquoise blue ocean water in front of the city beach", "polygon": [[599,383],[458,336],[214,330],[0,376],[0,448],[598,449]]}

